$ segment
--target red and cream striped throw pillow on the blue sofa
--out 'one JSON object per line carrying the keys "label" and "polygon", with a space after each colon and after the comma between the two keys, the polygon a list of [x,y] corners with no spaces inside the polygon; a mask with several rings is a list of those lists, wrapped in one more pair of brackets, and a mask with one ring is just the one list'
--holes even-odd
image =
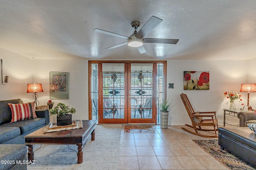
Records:
{"label": "red and cream striped throw pillow on the blue sofa", "polygon": [[24,120],[24,119],[34,119],[36,118],[34,102],[25,103],[25,104],[11,104],[8,103],[12,111],[12,122]]}

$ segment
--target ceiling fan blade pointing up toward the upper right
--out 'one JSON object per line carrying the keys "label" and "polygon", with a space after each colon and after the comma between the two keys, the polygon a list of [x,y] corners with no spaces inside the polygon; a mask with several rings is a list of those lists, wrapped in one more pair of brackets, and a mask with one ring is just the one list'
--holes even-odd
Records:
{"label": "ceiling fan blade pointing up toward the upper right", "polygon": [[145,37],[152,29],[154,29],[159,23],[161,23],[163,20],[156,18],[155,16],[152,16],[146,23],[143,25],[143,27],[138,31],[138,33],[135,35],[136,37],[143,38]]}

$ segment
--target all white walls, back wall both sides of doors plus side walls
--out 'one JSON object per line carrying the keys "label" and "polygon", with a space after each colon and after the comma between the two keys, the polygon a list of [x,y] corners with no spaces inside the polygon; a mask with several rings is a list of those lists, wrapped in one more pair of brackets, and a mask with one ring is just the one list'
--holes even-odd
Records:
{"label": "all white walls, back wall both sides of doors plus side walls", "polygon": [[[75,107],[74,119],[88,119],[88,60],[31,60],[0,49],[3,59],[3,76],[9,76],[7,85],[0,85],[0,100],[21,98],[33,101],[32,94],[26,93],[28,83],[42,83],[44,92],[38,94],[40,106],[49,98],[49,72],[69,72],[69,100],[52,100],[56,104],[64,102]],[[169,125],[190,123],[186,109],[180,99],[185,93],[195,111],[217,111],[220,124],[223,123],[223,109],[229,107],[225,91],[238,93],[242,83],[255,83],[254,64],[251,61],[209,61],[209,60],[168,60],[167,84],[174,83],[174,89],[167,88],[171,111]],[[183,90],[183,71],[210,71],[210,90]],[[246,104],[246,94],[242,94]],[[256,108],[256,93],[250,95],[250,105]],[[242,107],[239,103],[237,108]],[[229,123],[238,124],[236,117],[227,117]]]}

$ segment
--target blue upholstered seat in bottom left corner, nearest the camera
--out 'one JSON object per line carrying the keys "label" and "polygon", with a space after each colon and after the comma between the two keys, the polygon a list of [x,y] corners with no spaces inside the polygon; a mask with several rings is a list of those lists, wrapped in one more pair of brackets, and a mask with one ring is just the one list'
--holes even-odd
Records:
{"label": "blue upholstered seat in bottom left corner, nearest the camera", "polygon": [[[27,149],[26,145],[4,144],[0,145],[0,160],[1,161],[14,161],[14,164],[0,164],[1,170],[12,168],[16,164],[16,160],[24,160],[26,158]],[[26,167],[26,166],[25,166]]]}

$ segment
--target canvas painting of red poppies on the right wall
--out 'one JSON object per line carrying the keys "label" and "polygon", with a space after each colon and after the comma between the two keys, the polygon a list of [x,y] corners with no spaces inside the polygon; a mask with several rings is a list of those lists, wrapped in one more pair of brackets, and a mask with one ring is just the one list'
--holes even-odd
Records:
{"label": "canvas painting of red poppies on the right wall", "polygon": [[184,90],[209,90],[209,71],[184,71]]}

